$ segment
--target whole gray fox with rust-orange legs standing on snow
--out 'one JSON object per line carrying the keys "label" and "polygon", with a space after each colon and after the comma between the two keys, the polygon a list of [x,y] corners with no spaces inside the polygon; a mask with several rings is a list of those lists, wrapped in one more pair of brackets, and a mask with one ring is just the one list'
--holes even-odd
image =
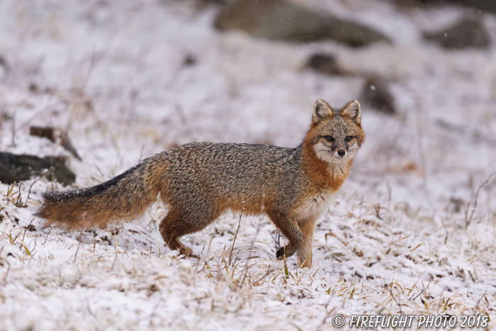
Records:
{"label": "whole gray fox with rust-orange legs standing on snow", "polygon": [[348,176],[364,139],[358,101],[339,109],[317,100],[310,130],[296,148],[193,142],[103,184],[45,192],[36,215],[47,226],[103,228],[133,220],[160,196],[169,209],[159,225],[165,243],[191,256],[179,237],[202,230],[227,210],[265,213],[289,241],[276,257],[296,252],[300,267],[311,267],[315,221]]}

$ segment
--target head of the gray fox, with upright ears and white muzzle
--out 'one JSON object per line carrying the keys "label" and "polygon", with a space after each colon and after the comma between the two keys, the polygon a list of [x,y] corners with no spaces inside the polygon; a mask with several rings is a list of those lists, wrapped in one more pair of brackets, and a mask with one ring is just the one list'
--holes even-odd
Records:
{"label": "head of the gray fox, with upright ears and white muzzle", "polygon": [[338,109],[317,100],[307,139],[315,155],[324,162],[339,164],[353,159],[365,140],[359,101],[351,101]]}

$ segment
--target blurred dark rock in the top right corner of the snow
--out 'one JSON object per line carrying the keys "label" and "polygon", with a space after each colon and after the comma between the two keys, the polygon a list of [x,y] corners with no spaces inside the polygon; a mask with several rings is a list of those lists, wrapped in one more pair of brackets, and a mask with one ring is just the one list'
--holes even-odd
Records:
{"label": "blurred dark rock in the top right corner of the snow", "polygon": [[453,50],[467,47],[488,47],[490,45],[489,35],[480,16],[463,18],[455,25],[435,33],[424,33],[424,38]]}

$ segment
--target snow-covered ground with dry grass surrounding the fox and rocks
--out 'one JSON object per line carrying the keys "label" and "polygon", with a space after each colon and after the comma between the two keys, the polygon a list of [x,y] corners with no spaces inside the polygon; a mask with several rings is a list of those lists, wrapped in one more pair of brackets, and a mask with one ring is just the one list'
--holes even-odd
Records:
{"label": "snow-covered ground with dry grass surrounding the fox and rocks", "polygon": [[[71,157],[74,187],[191,141],[295,147],[316,99],[342,106],[363,84],[305,69],[316,51],[390,79],[399,111],[363,106],[366,145],[317,224],[310,269],[275,259],[284,239],[264,217],[223,216],[184,238],[198,254],[184,259],[159,235],[159,203],[133,223],[64,232],[33,216],[60,184],[36,181],[28,200],[35,179],[9,196],[0,184],[0,330],[329,330],[337,313],[480,313],[495,327],[496,47],[423,41],[461,8],[296,2],[395,43],[218,33],[218,8],[192,0],[0,1],[0,150],[70,155],[28,135],[67,128],[83,159]],[[495,44],[496,16],[484,19]]]}

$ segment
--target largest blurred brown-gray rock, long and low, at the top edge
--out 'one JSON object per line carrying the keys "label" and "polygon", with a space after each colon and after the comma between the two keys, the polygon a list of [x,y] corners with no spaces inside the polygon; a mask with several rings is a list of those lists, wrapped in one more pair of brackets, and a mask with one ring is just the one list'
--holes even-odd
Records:
{"label": "largest blurred brown-gray rock, long and low, at the top edge", "polygon": [[382,33],[359,23],[316,13],[283,0],[237,0],[215,20],[220,30],[242,30],[271,40],[305,42],[332,39],[351,46],[388,42]]}

